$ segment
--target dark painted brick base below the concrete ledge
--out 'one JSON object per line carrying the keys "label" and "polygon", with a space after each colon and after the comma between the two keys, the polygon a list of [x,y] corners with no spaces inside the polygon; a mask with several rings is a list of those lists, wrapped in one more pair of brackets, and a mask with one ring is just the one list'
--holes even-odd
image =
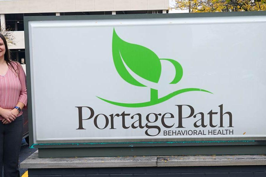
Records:
{"label": "dark painted brick base below the concrete ledge", "polygon": [[28,169],[29,177],[266,177],[266,165]]}

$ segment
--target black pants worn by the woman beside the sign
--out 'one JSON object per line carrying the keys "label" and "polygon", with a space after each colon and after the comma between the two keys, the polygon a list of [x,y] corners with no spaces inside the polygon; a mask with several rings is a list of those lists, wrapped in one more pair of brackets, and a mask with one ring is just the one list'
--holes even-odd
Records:
{"label": "black pants worn by the woman beside the sign", "polygon": [[0,177],[4,165],[4,177],[20,177],[18,160],[23,136],[23,116],[10,124],[0,122]]}

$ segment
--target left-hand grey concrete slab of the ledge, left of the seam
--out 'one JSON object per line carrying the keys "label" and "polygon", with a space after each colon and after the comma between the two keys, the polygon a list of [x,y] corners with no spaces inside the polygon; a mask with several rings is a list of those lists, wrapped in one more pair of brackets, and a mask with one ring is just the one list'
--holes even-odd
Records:
{"label": "left-hand grey concrete slab of the ledge, left of the seam", "polygon": [[38,151],[20,163],[20,168],[152,167],[156,156],[38,158]]}

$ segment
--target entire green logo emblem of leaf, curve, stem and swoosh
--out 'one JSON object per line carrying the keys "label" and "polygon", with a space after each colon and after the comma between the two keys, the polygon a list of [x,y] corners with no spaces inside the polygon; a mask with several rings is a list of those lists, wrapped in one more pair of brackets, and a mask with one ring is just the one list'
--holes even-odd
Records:
{"label": "entire green logo emblem of leaf, curve, stem and swoosh", "polygon": [[[160,60],[167,60],[173,64],[175,67],[176,73],[173,81],[170,84],[178,83],[183,76],[183,69],[180,63],[173,59],[160,59],[158,56],[147,47],[131,44],[122,40],[117,34],[115,29],[113,29],[113,41],[112,41],[112,53],[113,53],[113,62],[116,67],[117,72],[126,82],[134,85],[145,87],[142,83],[133,78],[130,73],[127,71],[126,66],[133,71],[138,76],[158,83],[161,75],[161,62]],[[125,66],[126,65],[126,66]],[[106,100],[98,97],[99,99],[106,101],[110,104],[124,107],[145,107],[151,106],[158,103],[162,103],[173,96],[178,94],[188,92],[188,91],[204,91],[211,93],[207,90],[197,89],[197,88],[187,88],[174,91],[171,94],[168,94],[162,98],[158,98],[158,90],[153,88],[150,89],[150,101],[143,103],[118,103],[110,100]]]}

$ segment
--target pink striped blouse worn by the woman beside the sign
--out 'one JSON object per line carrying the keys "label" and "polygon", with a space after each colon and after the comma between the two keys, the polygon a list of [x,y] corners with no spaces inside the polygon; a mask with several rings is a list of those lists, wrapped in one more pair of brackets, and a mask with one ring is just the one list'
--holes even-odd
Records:
{"label": "pink striped blouse worn by the woman beside the sign", "polygon": [[[14,109],[18,101],[25,104],[25,106],[27,105],[25,72],[19,63],[16,64],[15,62],[12,62],[12,65],[15,69],[17,69],[18,65],[18,76],[10,66],[4,76],[0,75],[0,107],[3,109]],[[22,111],[17,115],[17,117],[21,114]],[[3,120],[1,115],[0,120]]]}

